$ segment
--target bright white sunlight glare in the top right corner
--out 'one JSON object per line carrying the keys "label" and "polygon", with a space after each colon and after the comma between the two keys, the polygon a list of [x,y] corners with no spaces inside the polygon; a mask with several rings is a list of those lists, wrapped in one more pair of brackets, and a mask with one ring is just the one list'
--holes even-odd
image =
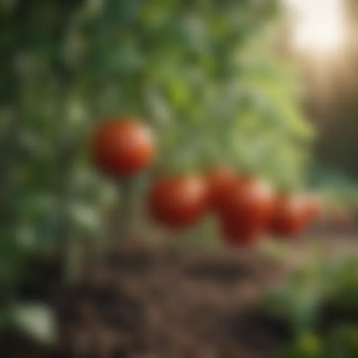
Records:
{"label": "bright white sunlight glare in the top right corner", "polygon": [[292,46],[298,51],[331,52],[343,41],[343,0],[287,0],[294,16]]}

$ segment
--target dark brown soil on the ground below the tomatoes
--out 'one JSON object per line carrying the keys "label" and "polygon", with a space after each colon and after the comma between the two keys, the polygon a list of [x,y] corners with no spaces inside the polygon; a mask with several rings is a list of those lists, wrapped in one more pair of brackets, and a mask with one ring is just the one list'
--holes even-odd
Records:
{"label": "dark brown soil on the ground below the tomatoes", "polygon": [[131,249],[60,299],[70,357],[269,358],[290,339],[260,311],[281,268],[259,254]]}

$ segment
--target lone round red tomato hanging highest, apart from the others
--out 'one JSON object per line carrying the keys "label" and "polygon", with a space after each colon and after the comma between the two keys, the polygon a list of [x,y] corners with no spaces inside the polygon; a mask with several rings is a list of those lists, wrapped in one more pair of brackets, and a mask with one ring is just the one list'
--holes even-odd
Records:
{"label": "lone round red tomato hanging highest, apart from the others", "polygon": [[98,169],[114,178],[137,174],[155,154],[149,128],[126,119],[100,123],[92,136],[91,151]]}

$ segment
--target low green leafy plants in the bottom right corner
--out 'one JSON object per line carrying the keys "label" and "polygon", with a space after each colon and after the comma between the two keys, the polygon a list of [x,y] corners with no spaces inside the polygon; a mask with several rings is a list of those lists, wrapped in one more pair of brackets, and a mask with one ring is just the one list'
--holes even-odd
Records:
{"label": "low green leafy plants in the bottom right corner", "polygon": [[[288,318],[295,341],[281,357],[350,358],[357,351],[357,260],[318,264],[298,270],[288,283],[272,291],[269,311]],[[322,308],[327,306],[330,311]],[[336,313],[335,313],[336,312]],[[341,314],[341,316],[337,316]],[[323,315],[336,317],[333,328],[320,334]]]}

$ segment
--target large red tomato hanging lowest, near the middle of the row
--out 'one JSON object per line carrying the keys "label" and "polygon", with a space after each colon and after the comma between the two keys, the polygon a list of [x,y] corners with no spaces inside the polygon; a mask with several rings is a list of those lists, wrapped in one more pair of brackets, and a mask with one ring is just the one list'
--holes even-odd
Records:
{"label": "large red tomato hanging lowest, near the middle of the row", "polygon": [[256,241],[266,229],[271,210],[272,191],[267,183],[253,178],[237,179],[223,204],[225,239],[239,245]]}

